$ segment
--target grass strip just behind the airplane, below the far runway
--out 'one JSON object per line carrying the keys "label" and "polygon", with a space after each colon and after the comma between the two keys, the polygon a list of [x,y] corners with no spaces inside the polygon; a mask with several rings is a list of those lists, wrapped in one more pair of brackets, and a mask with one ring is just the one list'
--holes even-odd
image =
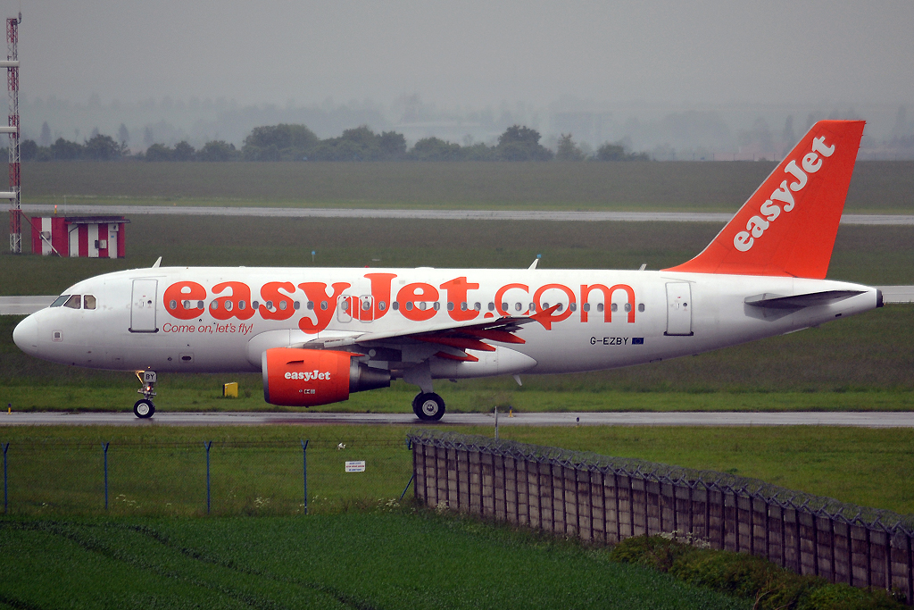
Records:
{"label": "grass strip just behind the airplane, below the far runway", "polygon": [[[0,242],[9,223],[0,213]],[[685,262],[714,223],[247,219],[134,216],[127,258],[58,259],[0,253],[0,294],[58,294],[81,279],[152,265],[526,269],[648,269]],[[30,234],[25,249],[31,250]],[[312,262],[311,252],[317,255]],[[842,227],[828,276],[914,284],[914,227]]]}

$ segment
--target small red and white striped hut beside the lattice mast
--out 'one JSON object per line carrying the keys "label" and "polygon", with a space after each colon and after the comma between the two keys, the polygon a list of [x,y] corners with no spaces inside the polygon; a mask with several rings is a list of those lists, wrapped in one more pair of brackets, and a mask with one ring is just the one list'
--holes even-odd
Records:
{"label": "small red and white striped hut beside the lattice mast", "polygon": [[122,216],[51,216],[32,219],[32,252],[121,259],[126,255]]}

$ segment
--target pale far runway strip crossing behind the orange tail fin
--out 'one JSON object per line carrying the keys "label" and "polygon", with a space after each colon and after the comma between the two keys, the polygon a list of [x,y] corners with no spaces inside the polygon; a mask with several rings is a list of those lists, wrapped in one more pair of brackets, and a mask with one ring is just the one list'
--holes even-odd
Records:
{"label": "pale far runway strip crossing behind the orange tail fin", "polygon": [[[28,213],[53,214],[48,204],[23,205]],[[736,210],[734,210],[736,212]],[[717,222],[733,218],[729,213],[713,212],[580,212],[553,210],[504,209],[332,209],[332,208],[227,208],[208,206],[90,206],[57,207],[57,213],[67,216],[148,215],[167,216],[248,216],[271,218],[320,219],[426,219],[426,220],[552,220],[563,222]],[[906,214],[844,214],[844,225],[914,225],[914,215]]]}

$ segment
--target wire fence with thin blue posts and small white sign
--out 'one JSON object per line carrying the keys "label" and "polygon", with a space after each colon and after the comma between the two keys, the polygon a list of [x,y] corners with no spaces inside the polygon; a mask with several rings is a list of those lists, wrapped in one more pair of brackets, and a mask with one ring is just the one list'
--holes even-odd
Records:
{"label": "wire fence with thin blue posts and small white sign", "polygon": [[42,515],[292,515],[399,501],[402,441],[12,442],[3,509]]}

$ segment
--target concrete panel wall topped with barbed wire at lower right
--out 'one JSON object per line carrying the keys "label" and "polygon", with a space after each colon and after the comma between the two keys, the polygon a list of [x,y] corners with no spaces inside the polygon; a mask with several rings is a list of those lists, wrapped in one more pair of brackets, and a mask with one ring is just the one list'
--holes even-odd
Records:
{"label": "concrete panel wall topped with barbed wire at lower right", "polygon": [[914,600],[914,517],[758,479],[458,433],[409,433],[416,496],[584,540],[677,532]]}

